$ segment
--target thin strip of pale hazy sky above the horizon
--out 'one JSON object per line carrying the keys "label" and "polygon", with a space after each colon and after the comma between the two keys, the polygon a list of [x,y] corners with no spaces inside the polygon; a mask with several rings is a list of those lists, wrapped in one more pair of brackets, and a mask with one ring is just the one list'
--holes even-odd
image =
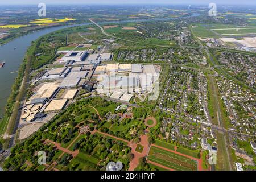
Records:
{"label": "thin strip of pale hazy sky above the horizon", "polygon": [[0,4],[38,4],[40,2],[46,4],[52,3],[84,3],[84,4],[209,4],[214,2],[216,4],[254,4],[255,0],[0,0]]}

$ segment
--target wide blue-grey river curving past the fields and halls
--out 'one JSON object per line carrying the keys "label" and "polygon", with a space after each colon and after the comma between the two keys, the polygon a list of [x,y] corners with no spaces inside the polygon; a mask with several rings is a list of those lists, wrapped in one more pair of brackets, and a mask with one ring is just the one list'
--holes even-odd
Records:
{"label": "wide blue-grey river curving past the fields and halls", "polygon": [[[199,16],[198,13],[193,13],[191,16],[186,18],[191,18]],[[108,23],[128,23],[128,22],[150,22],[150,21],[167,21],[179,18],[166,18],[166,19],[136,19],[136,20],[121,20],[113,22],[100,22],[98,24],[108,24]],[[75,26],[85,26],[92,23],[82,23],[66,26],[57,26],[45,28],[42,30],[31,32],[27,35],[20,36],[11,40],[10,42],[0,46],[0,61],[5,61],[5,66],[0,68],[0,118],[3,117],[5,112],[5,105],[8,97],[11,93],[11,86],[14,84],[15,78],[18,76],[18,69],[23,61],[24,55],[31,45],[33,40],[38,39],[40,36],[49,34],[50,32],[57,31],[63,28],[75,27]],[[16,48],[14,50],[14,48]]]}

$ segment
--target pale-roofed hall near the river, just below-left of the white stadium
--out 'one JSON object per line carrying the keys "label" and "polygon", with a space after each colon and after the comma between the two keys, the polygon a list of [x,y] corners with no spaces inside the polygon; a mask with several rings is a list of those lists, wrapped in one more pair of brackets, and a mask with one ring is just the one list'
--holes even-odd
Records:
{"label": "pale-roofed hall near the river, just below-left of the white stadium", "polygon": [[57,79],[57,78],[64,78],[70,72],[70,68],[53,68],[46,72],[41,79],[42,80],[49,80],[49,79]]}

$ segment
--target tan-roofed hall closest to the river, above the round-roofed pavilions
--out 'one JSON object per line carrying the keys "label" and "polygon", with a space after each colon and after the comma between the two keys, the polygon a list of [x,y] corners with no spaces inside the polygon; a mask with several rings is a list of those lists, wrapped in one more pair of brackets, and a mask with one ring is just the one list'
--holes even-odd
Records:
{"label": "tan-roofed hall closest to the river, above the round-roofed pavilions", "polygon": [[49,83],[43,84],[35,92],[35,94],[33,96],[31,96],[30,100],[33,100],[34,98],[51,98],[53,96],[53,94],[56,92],[58,87],[59,87],[59,84],[56,84],[54,82],[49,82]]}

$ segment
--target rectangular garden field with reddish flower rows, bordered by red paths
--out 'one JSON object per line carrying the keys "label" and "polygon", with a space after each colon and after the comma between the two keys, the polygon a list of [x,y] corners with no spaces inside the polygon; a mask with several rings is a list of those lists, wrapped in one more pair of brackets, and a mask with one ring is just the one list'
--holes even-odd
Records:
{"label": "rectangular garden field with reddish flower rows, bordered by red paths", "polygon": [[177,171],[196,171],[197,162],[181,155],[152,146],[148,160]]}

